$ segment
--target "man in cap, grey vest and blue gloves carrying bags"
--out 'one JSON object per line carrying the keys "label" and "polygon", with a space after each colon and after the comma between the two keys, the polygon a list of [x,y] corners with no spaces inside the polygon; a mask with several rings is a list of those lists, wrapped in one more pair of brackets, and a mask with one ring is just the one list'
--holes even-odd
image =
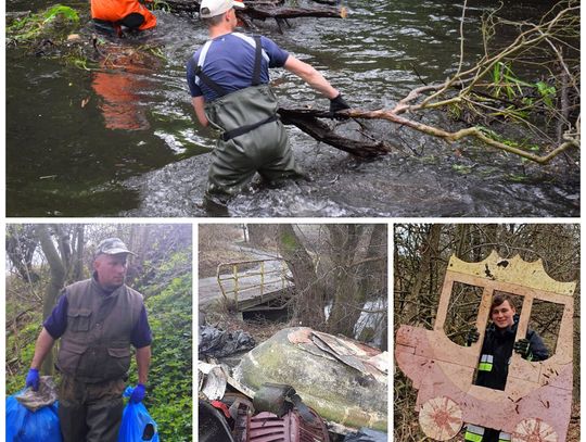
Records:
{"label": "man in cap, grey vest and blue gloves carrying bags", "polygon": [[59,419],[65,442],[116,442],[122,393],[135,346],[138,386],[130,401],[144,399],[151,363],[151,328],[142,295],[124,281],[130,252],[118,238],[100,242],[93,277],[63,290],[37,339],[26,386],[38,390],[39,368],[61,338]]}

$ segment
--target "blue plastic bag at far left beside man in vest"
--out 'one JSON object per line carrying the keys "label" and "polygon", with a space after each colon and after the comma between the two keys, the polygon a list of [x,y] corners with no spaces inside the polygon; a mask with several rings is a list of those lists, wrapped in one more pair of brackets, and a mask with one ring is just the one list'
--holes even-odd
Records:
{"label": "blue plastic bag at far left beside man in vest", "polygon": [[31,412],[16,400],[21,392],[7,397],[7,442],[63,442],[58,403]]}

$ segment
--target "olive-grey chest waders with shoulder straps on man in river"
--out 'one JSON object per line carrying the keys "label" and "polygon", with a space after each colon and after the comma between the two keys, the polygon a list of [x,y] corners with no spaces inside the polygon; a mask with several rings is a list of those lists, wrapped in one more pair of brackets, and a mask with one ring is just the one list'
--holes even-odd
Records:
{"label": "olive-grey chest waders with shoulder straps on man in river", "polygon": [[254,39],[255,62],[250,87],[227,93],[202,72],[201,58],[195,71],[218,94],[216,100],[205,104],[207,119],[220,130],[209,167],[206,198],[217,197],[220,202],[239,193],[256,172],[268,181],[302,176],[295,166],[286,130],[277,115],[277,98],[268,85],[260,84],[263,48],[260,37]]}

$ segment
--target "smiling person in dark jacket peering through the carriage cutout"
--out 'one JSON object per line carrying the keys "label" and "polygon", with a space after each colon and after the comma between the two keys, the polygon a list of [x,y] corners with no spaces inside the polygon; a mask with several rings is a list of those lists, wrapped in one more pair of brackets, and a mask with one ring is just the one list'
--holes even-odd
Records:
{"label": "smiling person in dark jacket peering through the carriage cutout", "polygon": [[[491,319],[493,324],[486,329],[474,383],[491,389],[505,390],[513,351],[527,361],[545,361],[549,357],[549,352],[539,334],[533,330],[527,330],[523,339],[514,341],[519,315],[510,295],[502,293],[493,298]],[[471,330],[468,333],[468,344],[477,342],[479,338],[479,331]],[[511,440],[511,435],[504,431],[469,424],[466,428],[464,440],[507,442]]]}

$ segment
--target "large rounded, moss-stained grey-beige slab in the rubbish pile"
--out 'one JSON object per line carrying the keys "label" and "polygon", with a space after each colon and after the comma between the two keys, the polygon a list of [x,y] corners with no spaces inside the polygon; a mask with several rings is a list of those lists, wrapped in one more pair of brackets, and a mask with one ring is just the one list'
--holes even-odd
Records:
{"label": "large rounded, moss-stained grey-beige slab in the rubbish pile", "polygon": [[291,384],[327,420],[386,431],[386,376],[362,372],[313,343],[291,342],[290,336],[304,331],[311,330],[280,330],[243,357],[234,377],[253,390],[265,382]]}

